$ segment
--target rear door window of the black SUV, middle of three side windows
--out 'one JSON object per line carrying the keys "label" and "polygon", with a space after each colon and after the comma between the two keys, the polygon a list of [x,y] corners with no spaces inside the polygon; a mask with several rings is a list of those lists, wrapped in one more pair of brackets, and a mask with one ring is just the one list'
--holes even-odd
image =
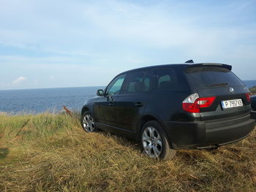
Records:
{"label": "rear door window of the black SUV, middle of three side windows", "polygon": [[127,74],[122,93],[143,93],[150,87],[150,79],[146,71],[136,71]]}

